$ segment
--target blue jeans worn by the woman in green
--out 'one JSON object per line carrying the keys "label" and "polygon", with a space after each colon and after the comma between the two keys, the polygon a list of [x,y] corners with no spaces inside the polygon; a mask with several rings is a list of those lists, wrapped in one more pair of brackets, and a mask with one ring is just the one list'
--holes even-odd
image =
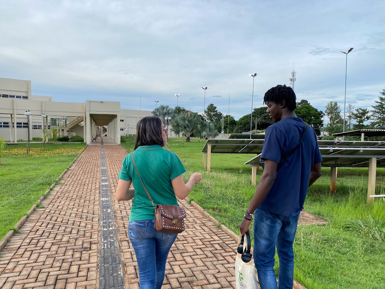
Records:
{"label": "blue jeans worn by the woman in green", "polygon": [[167,255],[178,234],[155,230],[155,220],[128,223],[128,235],[134,248],[141,289],[161,289]]}

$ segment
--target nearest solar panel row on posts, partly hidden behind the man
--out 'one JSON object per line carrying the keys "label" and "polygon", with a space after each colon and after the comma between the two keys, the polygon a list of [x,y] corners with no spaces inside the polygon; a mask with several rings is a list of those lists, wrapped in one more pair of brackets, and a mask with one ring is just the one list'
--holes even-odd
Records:
{"label": "nearest solar panel row on posts, partly hidden behind the man", "polygon": [[[320,148],[320,152],[322,156],[322,166],[331,168],[331,191],[335,191],[336,168],[369,168],[367,203],[371,204],[374,202],[373,197],[370,197],[370,195],[375,195],[376,169],[385,168],[385,148]],[[257,166],[259,165],[260,158],[261,154],[246,161],[245,165]],[[347,159],[348,162],[342,163],[342,160],[345,159]],[[251,176],[251,179],[254,179],[254,175]]]}

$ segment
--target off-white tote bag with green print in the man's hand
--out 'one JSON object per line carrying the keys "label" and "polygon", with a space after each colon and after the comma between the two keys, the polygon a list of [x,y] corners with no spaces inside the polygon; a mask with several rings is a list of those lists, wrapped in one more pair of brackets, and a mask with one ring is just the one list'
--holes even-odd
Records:
{"label": "off-white tote bag with green print in the man's hand", "polygon": [[[251,247],[251,244],[247,242],[248,238],[245,238],[243,244],[243,251],[247,246]],[[238,237],[238,245],[241,243],[241,234]],[[237,245],[237,248],[238,248]],[[242,254],[237,252],[237,257],[235,259],[235,284],[236,289],[258,289],[258,283],[255,276],[255,267],[253,258],[250,262],[245,263],[241,259]]]}

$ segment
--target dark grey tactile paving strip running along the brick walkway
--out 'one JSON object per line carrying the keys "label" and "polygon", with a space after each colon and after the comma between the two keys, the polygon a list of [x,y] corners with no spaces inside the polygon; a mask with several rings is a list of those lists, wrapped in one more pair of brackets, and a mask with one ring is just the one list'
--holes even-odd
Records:
{"label": "dark grey tactile paving strip running along the brick walkway", "polygon": [[105,162],[104,146],[100,150],[100,249],[99,249],[99,288],[123,289],[122,260],[114,223],[111,190]]}

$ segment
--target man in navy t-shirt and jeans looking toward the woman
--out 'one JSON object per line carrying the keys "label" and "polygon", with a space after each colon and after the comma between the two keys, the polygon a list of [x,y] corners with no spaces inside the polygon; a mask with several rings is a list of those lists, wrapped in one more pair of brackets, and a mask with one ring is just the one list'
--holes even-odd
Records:
{"label": "man in navy t-shirt and jeans looking toward the woman", "polygon": [[321,176],[322,158],[315,132],[294,113],[296,96],[291,87],[272,87],[263,103],[276,123],[266,129],[263,174],[239,229],[244,235],[254,216],[254,264],[261,289],[278,288],[275,247],[280,260],[279,288],[292,289],[298,217],[308,187]]}

